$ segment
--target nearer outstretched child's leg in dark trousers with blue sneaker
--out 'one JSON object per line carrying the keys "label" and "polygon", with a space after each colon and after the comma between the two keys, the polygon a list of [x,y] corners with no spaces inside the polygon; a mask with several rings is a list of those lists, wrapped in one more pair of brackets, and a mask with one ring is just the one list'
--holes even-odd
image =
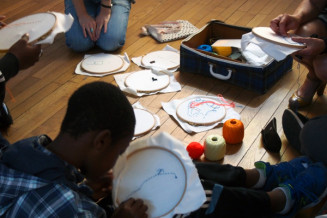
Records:
{"label": "nearer outstretched child's leg in dark trousers with blue sneaker", "polygon": [[327,169],[322,163],[309,164],[305,170],[279,184],[270,192],[226,187],[202,181],[207,202],[190,217],[292,217],[304,207],[313,206],[326,195]]}

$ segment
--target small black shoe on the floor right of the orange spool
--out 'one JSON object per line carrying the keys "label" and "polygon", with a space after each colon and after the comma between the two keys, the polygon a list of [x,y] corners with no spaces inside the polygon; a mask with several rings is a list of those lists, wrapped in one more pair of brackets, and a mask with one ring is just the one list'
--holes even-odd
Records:
{"label": "small black shoe on the floor right of the orange spool", "polygon": [[276,118],[274,117],[267,126],[261,131],[263,147],[274,153],[279,153],[282,141],[277,133]]}

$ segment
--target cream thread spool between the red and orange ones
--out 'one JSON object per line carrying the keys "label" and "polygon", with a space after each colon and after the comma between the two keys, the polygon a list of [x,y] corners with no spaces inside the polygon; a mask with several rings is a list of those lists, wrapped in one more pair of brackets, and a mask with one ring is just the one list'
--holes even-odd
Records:
{"label": "cream thread spool between the red and orange ones", "polygon": [[217,161],[224,158],[226,153],[225,139],[220,135],[209,135],[204,142],[206,159]]}

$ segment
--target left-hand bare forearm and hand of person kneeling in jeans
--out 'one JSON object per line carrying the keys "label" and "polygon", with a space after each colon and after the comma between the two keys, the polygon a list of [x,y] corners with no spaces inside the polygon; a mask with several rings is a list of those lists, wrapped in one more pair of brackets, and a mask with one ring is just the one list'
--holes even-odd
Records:
{"label": "left-hand bare forearm and hand of person kneeling in jeans", "polygon": [[83,0],[73,0],[73,4],[78,16],[79,24],[82,27],[84,37],[86,38],[87,35],[89,35],[91,40],[95,41],[96,22],[94,18],[87,13]]}

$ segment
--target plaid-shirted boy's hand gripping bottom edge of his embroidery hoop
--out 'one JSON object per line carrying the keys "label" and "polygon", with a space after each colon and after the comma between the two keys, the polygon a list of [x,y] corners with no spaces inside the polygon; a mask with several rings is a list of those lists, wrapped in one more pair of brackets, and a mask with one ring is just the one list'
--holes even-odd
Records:
{"label": "plaid-shirted boy's hand gripping bottom edge of his embroidery hoop", "polygon": [[121,203],[115,210],[113,217],[115,218],[147,218],[146,211],[148,207],[140,199],[130,198]]}

